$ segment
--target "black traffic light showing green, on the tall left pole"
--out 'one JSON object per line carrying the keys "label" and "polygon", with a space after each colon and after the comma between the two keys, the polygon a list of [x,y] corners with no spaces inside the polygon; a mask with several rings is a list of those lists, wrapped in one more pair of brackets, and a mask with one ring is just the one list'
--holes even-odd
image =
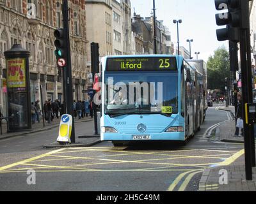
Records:
{"label": "black traffic light showing green, on the tall left pole", "polygon": [[64,59],[67,57],[67,39],[65,38],[65,32],[63,29],[56,29],[54,31],[54,36],[56,40],[54,41],[54,45],[56,47],[55,55],[57,61]]}

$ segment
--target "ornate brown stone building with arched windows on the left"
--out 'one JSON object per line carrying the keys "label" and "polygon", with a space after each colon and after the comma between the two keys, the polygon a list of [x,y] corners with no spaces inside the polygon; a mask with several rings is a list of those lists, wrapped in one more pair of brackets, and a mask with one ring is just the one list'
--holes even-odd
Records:
{"label": "ornate brown stone building with arched windows on the left", "polygon": [[[28,17],[28,3],[35,4],[36,18]],[[61,0],[0,0],[0,105],[6,106],[4,51],[19,43],[31,52],[29,71],[31,101],[63,99],[61,70],[54,55],[54,29],[62,27]],[[86,68],[86,11],[84,0],[70,0],[70,46],[74,99],[83,99],[88,87]]]}

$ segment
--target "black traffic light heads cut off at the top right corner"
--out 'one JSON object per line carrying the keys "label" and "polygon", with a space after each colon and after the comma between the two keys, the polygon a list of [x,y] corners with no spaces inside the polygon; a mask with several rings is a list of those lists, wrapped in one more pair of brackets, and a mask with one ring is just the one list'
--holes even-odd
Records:
{"label": "black traffic light heads cut off at the top right corner", "polygon": [[219,41],[239,41],[239,29],[248,29],[248,3],[244,0],[215,0],[216,10],[228,10],[226,13],[216,14],[217,25],[227,25],[226,28],[216,31]]}

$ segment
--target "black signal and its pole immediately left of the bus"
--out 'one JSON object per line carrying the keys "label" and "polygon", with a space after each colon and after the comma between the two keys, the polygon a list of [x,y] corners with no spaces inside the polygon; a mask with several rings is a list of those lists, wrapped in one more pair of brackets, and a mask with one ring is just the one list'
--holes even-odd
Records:
{"label": "black signal and its pole immediately left of the bus", "polygon": [[[99,73],[99,43],[91,43],[91,62],[92,62],[92,76],[93,80],[96,73]],[[94,81],[93,81],[94,83]],[[93,98],[95,91],[93,92]],[[98,121],[97,121],[97,106],[93,101],[93,115],[94,115],[94,134],[98,135]]]}

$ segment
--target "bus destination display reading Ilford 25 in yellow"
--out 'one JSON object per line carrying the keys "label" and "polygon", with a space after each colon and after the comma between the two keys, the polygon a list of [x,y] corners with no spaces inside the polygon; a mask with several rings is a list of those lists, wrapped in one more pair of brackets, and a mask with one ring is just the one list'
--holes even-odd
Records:
{"label": "bus destination display reading Ilford 25 in yellow", "polygon": [[177,71],[175,57],[109,58],[106,71]]}

